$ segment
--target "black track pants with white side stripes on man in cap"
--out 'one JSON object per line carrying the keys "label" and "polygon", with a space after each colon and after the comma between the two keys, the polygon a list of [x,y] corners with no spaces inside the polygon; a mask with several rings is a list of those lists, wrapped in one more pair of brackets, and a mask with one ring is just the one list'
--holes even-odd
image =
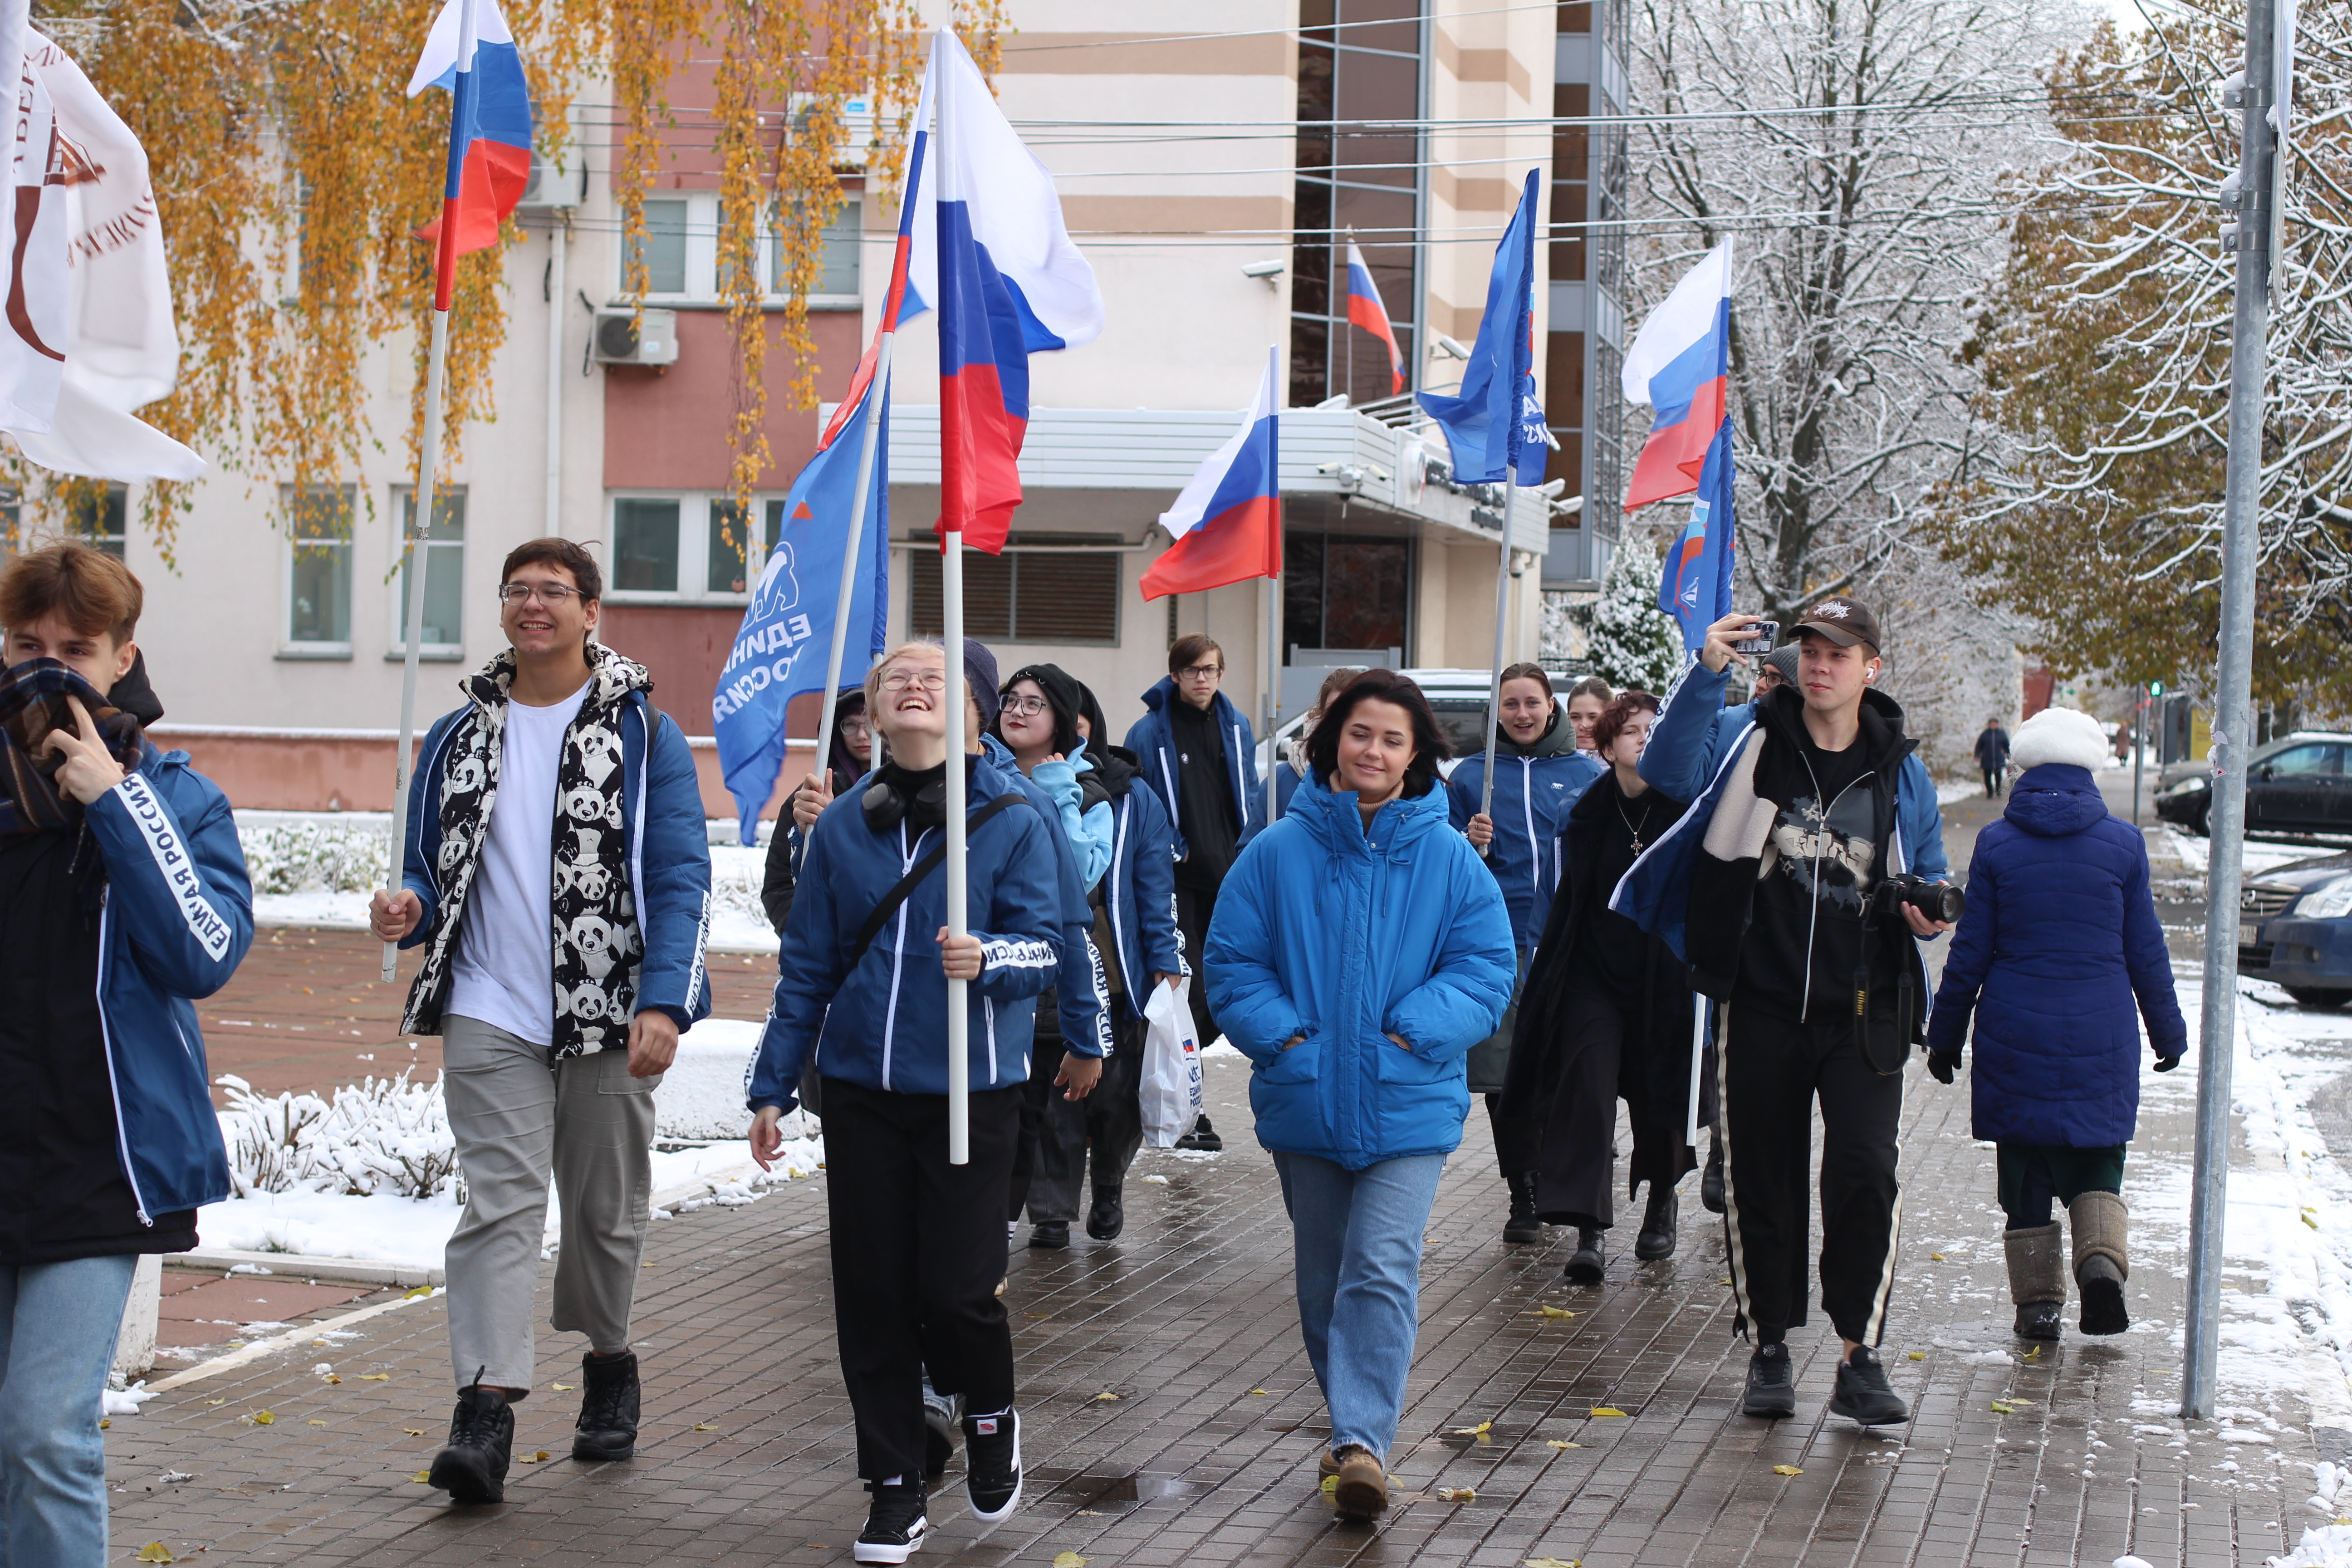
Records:
{"label": "black track pants with white side stripes on man in cap", "polygon": [[1740,1328],[1771,1345],[1804,1326],[1813,1103],[1820,1103],[1820,1305],[1846,1340],[1877,1345],[1893,1291],[1903,1194],[1903,1074],[1882,1077],[1853,1020],[1797,1023],[1733,1004],[1722,1074],[1724,1229]]}

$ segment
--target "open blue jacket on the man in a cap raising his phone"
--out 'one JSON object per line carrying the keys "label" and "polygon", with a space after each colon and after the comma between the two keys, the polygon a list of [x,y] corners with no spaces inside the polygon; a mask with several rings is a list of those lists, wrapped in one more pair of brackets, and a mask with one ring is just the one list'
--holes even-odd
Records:
{"label": "open blue jacket on the man in a cap raising his phone", "polygon": [[[1665,938],[1665,945],[1684,964],[1691,961],[1686,940],[1691,872],[1700,842],[1708,837],[1708,823],[1715,820],[1715,806],[1724,797],[1731,764],[1757,726],[1755,703],[1724,708],[1724,684],[1726,672],[1693,665],[1651,726],[1649,745],[1642,750],[1642,778],[1670,799],[1691,802],[1691,809],[1642,851],[1642,858],[1618,882],[1616,893],[1609,896],[1611,910]],[[1896,712],[1900,715],[1900,710]],[[1903,757],[1896,776],[1896,823],[1886,870],[1907,870],[1933,882],[1950,877],[1950,863],[1943,858],[1943,809],[1936,804],[1936,780],[1915,755]],[[1745,917],[1740,910],[1743,929]],[[1917,947],[1910,957],[1912,964],[1919,961]]]}

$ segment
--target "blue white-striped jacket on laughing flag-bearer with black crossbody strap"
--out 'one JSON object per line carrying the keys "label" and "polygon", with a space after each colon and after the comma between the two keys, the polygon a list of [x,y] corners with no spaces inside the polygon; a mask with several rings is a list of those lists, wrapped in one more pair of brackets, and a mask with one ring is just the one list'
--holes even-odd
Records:
{"label": "blue white-striped jacket on laughing flag-bearer with black crossbody strap", "polygon": [[[1025,783],[1018,769],[974,757],[967,809],[1000,795],[1035,806]],[[746,1086],[753,1110],[790,1110],[811,1051],[823,1077],[891,1093],[948,1093],[948,980],[938,966],[948,867],[915,884],[851,959],[868,914],[941,837],[938,827],[908,823],[868,827],[873,788],[875,776],[861,778],[826,806],[809,835],[776,954],[776,1001]],[[995,813],[971,832],[967,853],[964,912],[983,950],[981,978],[964,987],[971,1088],[1009,1088],[1028,1081],[1037,994],[1054,985],[1068,931],[1063,867],[1070,865],[1070,882],[1077,870],[1049,809]]]}

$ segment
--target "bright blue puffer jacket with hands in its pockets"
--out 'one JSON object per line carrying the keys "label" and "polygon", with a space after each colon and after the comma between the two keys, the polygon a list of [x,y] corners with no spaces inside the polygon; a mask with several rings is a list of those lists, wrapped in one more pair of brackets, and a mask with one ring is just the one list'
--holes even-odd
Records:
{"label": "bright blue puffer jacket with hands in its pockets", "polygon": [[1225,875],[1202,957],[1209,1006],[1256,1067],[1258,1143],[1350,1171],[1461,1145],[1463,1056],[1517,978],[1510,910],[1444,790],[1362,823],[1352,790],[1305,778]]}

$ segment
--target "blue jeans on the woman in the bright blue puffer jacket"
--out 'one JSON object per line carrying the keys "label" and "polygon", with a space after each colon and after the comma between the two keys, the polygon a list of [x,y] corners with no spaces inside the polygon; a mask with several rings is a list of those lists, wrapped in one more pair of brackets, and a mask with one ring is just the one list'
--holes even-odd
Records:
{"label": "blue jeans on the woman in the bright blue puffer jacket", "polygon": [[1331,1450],[1388,1458],[1404,1415],[1404,1375],[1421,1331],[1421,1232],[1444,1154],[1350,1171],[1315,1154],[1275,1154],[1291,1215],[1298,1328],[1331,1410]]}

